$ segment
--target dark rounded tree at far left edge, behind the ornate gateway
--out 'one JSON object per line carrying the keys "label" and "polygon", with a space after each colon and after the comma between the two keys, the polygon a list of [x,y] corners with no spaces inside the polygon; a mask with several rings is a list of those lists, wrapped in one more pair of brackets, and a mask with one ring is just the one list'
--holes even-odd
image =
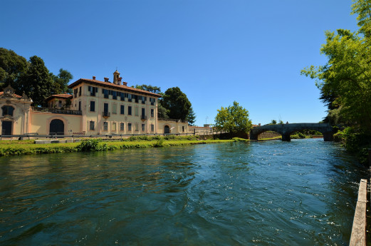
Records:
{"label": "dark rounded tree at far left edge, behind the ornate gateway", "polygon": [[26,58],[17,55],[14,51],[0,48],[0,86],[4,88],[10,85],[17,88],[19,78],[26,73]]}

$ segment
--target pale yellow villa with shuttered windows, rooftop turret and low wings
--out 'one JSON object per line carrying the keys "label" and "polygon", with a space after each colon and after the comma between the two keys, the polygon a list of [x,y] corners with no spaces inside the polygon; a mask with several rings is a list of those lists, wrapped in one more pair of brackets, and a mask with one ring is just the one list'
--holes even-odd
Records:
{"label": "pale yellow villa with shuttered windows, rooftop turret and low wings", "polygon": [[0,93],[2,135],[142,135],[188,133],[188,124],[157,118],[161,96],[127,86],[120,73],[98,81],[80,78],[68,88],[73,95],[60,94],[46,99],[48,108],[31,107],[32,100],[17,96],[7,87]]}

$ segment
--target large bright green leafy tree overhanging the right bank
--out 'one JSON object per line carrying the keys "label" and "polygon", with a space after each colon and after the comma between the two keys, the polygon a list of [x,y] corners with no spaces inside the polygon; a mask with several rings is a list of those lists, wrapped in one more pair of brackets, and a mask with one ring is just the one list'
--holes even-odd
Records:
{"label": "large bright green leafy tree overhanging the right bank", "polygon": [[352,14],[358,14],[360,30],[326,31],[320,52],[325,66],[310,66],[301,73],[315,78],[320,99],[328,106],[326,121],[357,125],[371,132],[371,1],[355,0]]}

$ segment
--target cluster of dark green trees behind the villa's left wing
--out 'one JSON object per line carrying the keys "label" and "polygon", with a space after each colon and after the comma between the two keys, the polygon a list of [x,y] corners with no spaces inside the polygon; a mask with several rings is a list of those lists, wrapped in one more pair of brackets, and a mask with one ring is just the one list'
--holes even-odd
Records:
{"label": "cluster of dark green trees behind the villa's left wing", "polygon": [[53,94],[70,93],[67,86],[72,78],[63,68],[54,75],[38,56],[27,61],[14,51],[0,48],[0,88],[11,86],[18,95],[26,93],[34,106],[46,106],[45,99]]}

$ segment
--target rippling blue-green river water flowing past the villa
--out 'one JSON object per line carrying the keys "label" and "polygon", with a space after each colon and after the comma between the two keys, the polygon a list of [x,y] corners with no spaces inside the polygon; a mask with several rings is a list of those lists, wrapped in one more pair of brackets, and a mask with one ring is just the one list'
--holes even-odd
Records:
{"label": "rippling blue-green river water flowing past the villa", "polygon": [[0,245],[348,245],[360,178],[322,139],[0,158]]}

